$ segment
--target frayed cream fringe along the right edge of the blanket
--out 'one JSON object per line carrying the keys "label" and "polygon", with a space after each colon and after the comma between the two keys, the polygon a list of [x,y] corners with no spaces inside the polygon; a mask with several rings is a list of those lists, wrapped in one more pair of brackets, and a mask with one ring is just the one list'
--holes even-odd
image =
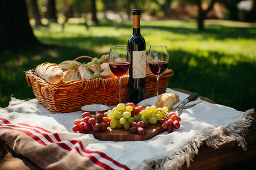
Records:
{"label": "frayed cream fringe along the right edge of the blanket", "polygon": [[184,163],[187,167],[195,154],[198,154],[201,145],[218,148],[221,142],[237,142],[243,150],[247,150],[245,135],[248,134],[248,128],[251,125],[254,109],[249,109],[243,113],[240,120],[233,122],[228,127],[208,128],[203,134],[196,135],[185,142],[184,146],[177,148],[172,154],[156,159],[145,160],[141,164],[141,169],[180,169]]}

